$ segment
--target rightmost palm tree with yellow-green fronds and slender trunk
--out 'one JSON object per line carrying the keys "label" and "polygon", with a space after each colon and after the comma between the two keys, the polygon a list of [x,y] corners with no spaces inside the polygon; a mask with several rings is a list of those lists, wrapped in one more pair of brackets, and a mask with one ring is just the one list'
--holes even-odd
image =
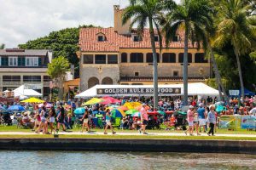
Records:
{"label": "rightmost palm tree with yellow-green fronds and slender trunk", "polygon": [[213,44],[222,48],[230,42],[233,46],[241,84],[241,97],[244,99],[240,56],[249,53],[253,48],[252,41],[255,41],[256,37],[256,27],[250,24],[253,16],[247,16],[250,6],[245,5],[242,0],[222,0],[219,8],[218,31]]}

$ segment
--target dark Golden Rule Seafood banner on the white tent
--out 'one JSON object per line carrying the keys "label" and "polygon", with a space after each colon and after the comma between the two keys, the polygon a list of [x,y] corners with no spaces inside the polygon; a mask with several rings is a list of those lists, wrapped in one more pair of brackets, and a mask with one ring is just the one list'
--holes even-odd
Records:
{"label": "dark Golden Rule Seafood banner on the white tent", "polygon": [[[154,88],[97,88],[97,94],[153,94]],[[181,94],[181,88],[158,88],[159,94]]]}

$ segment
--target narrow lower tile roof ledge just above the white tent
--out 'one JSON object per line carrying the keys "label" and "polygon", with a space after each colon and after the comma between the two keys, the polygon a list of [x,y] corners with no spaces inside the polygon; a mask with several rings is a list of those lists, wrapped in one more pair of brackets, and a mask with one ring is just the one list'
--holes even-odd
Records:
{"label": "narrow lower tile roof ledge just above the white tent", "polygon": [[[189,81],[205,81],[204,77],[188,77]],[[153,77],[120,77],[120,82],[152,82]],[[183,81],[183,77],[158,77],[160,82]]]}

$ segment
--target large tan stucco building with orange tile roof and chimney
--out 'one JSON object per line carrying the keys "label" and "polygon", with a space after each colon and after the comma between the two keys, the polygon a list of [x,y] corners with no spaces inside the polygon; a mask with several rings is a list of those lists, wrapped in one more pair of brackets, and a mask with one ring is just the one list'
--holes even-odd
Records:
{"label": "large tan stucco building with orange tile roof and chimney", "polygon": [[[129,20],[121,22],[123,9],[114,6],[114,26],[110,28],[82,28],[79,34],[80,91],[96,84],[152,84],[153,57],[149,30],[140,38],[130,30]],[[160,44],[157,33],[160,84],[183,82],[183,33],[173,37],[168,48]],[[166,44],[163,43],[166,47]],[[210,76],[210,61],[202,49],[189,43],[189,82],[205,82]]]}

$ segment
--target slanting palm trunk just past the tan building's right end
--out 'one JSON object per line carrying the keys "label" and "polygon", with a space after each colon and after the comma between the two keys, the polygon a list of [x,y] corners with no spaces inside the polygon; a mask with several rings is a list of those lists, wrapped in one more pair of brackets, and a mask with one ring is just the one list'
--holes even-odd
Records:
{"label": "slanting palm trunk just past the tan building's right end", "polygon": [[[213,71],[214,71],[214,74],[215,74],[215,77],[216,77],[216,81],[218,83],[218,86],[220,86],[220,88],[222,89],[222,91],[224,93],[224,99],[226,100],[227,104],[230,105],[230,99],[229,99],[229,97],[228,97],[228,95],[226,93],[226,90],[224,88],[223,83],[221,82],[221,77],[220,77],[220,74],[218,72],[218,66],[217,66],[216,60],[214,58],[212,47],[210,45],[208,45],[208,48],[210,49],[210,53],[211,53]],[[223,98],[222,98],[222,94],[221,94],[221,89],[218,89],[218,93],[219,93],[220,99],[222,100]]]}

